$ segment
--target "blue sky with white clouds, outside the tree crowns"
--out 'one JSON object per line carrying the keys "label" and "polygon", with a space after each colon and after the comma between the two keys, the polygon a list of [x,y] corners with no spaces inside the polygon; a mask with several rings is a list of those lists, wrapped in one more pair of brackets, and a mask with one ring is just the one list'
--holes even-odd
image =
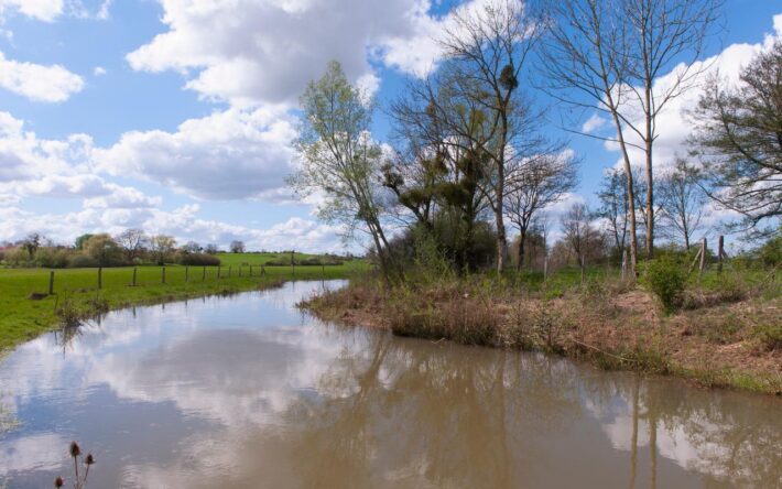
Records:
{"label": "blue sky with white clouds, outside the tree crowns", "polygon": [[[459,3],[0,0],[0,241],[143,227],[181,241],[341,249],[337,228],[283,183],[296,96],[336,58],[381,104],[392,99],[436,63],[432,36]],[[735,76],[782,35],[781,13],[779,1],[727,1],[726,30],[705,57],[719,55],[715,66]],[[551,105],[546,130],[564,135],[564,108],[536,97]],[[680,150],[678,112],[696,98],[666,115],[663,157]],[[374,135],[387,130],[379,112]],[[593,203],[618,154],[569,142],[583,165],[567,202]]]}

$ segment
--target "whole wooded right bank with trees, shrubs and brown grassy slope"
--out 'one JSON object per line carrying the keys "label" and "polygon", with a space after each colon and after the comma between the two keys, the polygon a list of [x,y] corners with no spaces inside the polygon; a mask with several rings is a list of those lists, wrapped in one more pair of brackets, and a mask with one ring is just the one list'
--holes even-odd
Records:
{"label": "whole wooded right bank with trees, shrubs and brown grassy slope", "polygon": [[[399,335],[782,392],[782,43],[731,84],[694,63],[719,2],[537,7],[457,13],[441,64],[385,108],[390,145],[339,64],[309,84],[291,184],[366,233],[379,275],[303,305]],[[695,80],[708,88],[689,150],[664,160],[658,116]],[[531,87],[607,118],[600,139],[622,157],[597,205],[573,194],[582,159],[544,132]]]}

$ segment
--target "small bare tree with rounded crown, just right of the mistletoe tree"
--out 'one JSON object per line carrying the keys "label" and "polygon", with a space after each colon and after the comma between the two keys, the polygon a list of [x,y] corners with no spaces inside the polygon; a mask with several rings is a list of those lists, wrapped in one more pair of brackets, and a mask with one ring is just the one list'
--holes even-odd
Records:
{"label": "small bare tree with rounded crown, just right of the mistletoe tree", "polygon": [[504,211],[519,230],[517,270],[524,262],[524,244],[536,213],[560,202],[577,183],[571,154],[542,154],[515,163],[509,172]]}

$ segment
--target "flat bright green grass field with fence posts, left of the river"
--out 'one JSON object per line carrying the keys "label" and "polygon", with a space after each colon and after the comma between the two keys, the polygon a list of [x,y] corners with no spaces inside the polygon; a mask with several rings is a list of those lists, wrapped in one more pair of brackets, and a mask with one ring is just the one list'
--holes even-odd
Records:
{"label": "flat bright green grass field with fence posts, left of the river", "polygon": [[[34,338],[59,325],[55,306],[67,301],[80,315],[95,309],[116,309],[137,304],[153,304],[203,295],[224,294],[270,286],[282,280],[341,279],[367,270],[362,260],[326,267],[265,267],[260,263],[279,256],[271,253],[224,253],[224,265],[166,265],[165,284],[162,267],[138,267],[137,286],[132,286],[132,268],[104,269],[98,290],[98,269],[54,270],[54,294],[48,292],[47,269],[0,269],[0,351]],[[250,267],[252,264],[252,276]],[[187,281],[185,278],[187,276]],[[230,276],[229,276],[230,274]],[[32,294],[44,294],[40,300]]]}

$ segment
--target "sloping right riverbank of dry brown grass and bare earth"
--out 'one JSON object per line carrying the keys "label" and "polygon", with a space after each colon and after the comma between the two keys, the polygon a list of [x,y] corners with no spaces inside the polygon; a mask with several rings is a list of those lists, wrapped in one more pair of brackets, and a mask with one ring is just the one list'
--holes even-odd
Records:
{"label": "sloping right riverbank of dry brown grass and bare earth", "polygon": [[782,394],[782,280],[716,272],[664,314],[650,293],[593,271],[414,280],[387,290],[369,278],[302,304],[325,319],[466,345],[543,350],[605,369],[637,370]]}

